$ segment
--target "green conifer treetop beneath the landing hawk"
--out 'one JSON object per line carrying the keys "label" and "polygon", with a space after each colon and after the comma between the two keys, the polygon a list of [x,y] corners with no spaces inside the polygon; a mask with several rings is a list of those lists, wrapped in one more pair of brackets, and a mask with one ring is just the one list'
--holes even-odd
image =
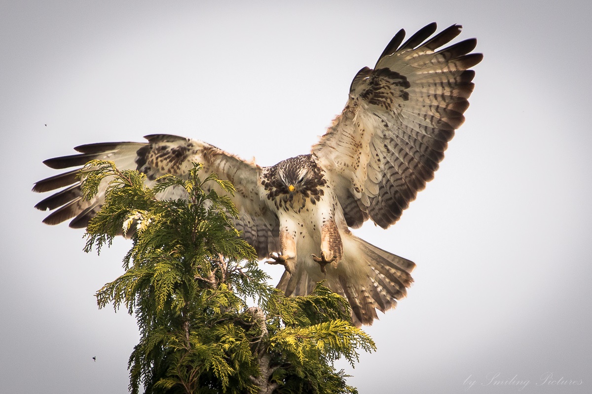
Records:
{"label": "green conifer treetop beneath the landing hawk", "polygon": [[[103,286],[100,308],[135,314],[140,343],[130,356],[130,391],[138,393],[353,393],[333,367],[374,343],[349,321],[348,302],[322,284],[307,297],[284,297],[266,284],[256,253],[233,227],[238,213],[228,181],[146,175],[109,161],[82,170],[83,192],[107,184],[88,226],[87,252],[117,235],[133,244],[126,272]],[[205,183],[216,183],[206,193]],[[160,196],[183,196],[176,200]],[[254,299],[259,307],[249,307]]]}

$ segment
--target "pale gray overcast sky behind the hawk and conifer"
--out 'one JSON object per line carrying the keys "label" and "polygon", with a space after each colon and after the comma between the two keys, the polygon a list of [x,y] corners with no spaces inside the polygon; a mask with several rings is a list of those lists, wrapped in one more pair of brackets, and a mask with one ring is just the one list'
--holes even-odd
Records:
{"label": "pale gray overcast sky behind the hawk and conifer", "polygon": [[416,282],[367,329],[378,351],[339,367],[361,393],[592,391],[589,2],[48,3],[0,4],[3,392],[126,392],[138,339],[94,298],[129,244],[87,255],[42,224],[43,159],[159,132],[261,165],[307,153],[355,73],[432,21],[485,58],[436,179],[391,229],[356,231]]}

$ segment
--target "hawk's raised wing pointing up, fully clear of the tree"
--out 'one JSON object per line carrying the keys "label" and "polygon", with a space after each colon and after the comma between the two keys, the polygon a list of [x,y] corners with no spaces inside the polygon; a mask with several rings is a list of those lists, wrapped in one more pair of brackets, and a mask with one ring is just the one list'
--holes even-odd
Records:
{"label": "hawk's raised wing pointing up, fully clear of the tree", "polygon": [[350,227],[368,218],[383,228],[397,222],[433,179],[448,141],[464,122],[474,71],[474,38],[439,50],[461,32],[452,25],[430,38],[432,23],[403,45],[392,38],[374,70],[353,79],[343,113],[334,120],[314,158],[334,180]]}

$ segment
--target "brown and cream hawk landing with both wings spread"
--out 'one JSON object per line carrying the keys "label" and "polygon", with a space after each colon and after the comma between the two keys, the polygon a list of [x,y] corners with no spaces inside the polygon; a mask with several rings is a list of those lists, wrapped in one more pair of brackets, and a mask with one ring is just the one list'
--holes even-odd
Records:
{"label": "brown and cream hawk landing with both wings spread", "polygon": [[[405,297],[415,264],[356,237],[370,219],[386,229],[432,180],[448,141],[464,122],[474,84],[469,70],[482,59],[474,38],[449,44],[461,32],[452,25],[435,34],[432,23],[403,43],[400,30],[378,58],[353,78],[345,109],[310,154],[259,167],[213,145],[173,135],[147,142],[77,146],[79,154],[44,161],[62,169],[91,159],[135,168],[147,183],[173,174],[187,177],[192,162],[229,180],[240,217],[234,221],[260,259],[285,266],[278,287],[306,295],[316,282],[347,298],[356,325],[372,324]],[[435,34],[435,35],[434,35]],[[86,227],[101,208],[105,185],[83,198],[78,170],[38,181],[38,192],[65,187],[36,205],[54,210],[47,224],[72,219]],[[181,193],[181,192],[179,192]],[[182,196],[162,195],[161,198]]]}

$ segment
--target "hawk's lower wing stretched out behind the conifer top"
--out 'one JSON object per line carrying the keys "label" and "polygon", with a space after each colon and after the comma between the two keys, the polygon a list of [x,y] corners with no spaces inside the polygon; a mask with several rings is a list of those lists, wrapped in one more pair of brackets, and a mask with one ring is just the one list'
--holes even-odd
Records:
{"label": "hawk's lower wing stretched out behind the conifer top", "polygon": [[[239,210],[235,226],[243,232],[243,238],[263,258],[271,252],[279,252],[279,221],[259,198],[258,165],[227,154],[215,146],[173,135],[149,135],[145,142],[113,142],[77,146],[77,155],[47,159],[44,164],[62,169],[86,164],[92,159],[108,159],[121,170],[127,168],[144,172],[148,184],[165,174],[186,178],[192,162],[204,164],[204,173],[215,172],[219,178],[229,180],[236,188],[234,205]],[[40,210],[54,210],[46,219],[47,224],[57,224],[72,219],[70,227],[83,228],[101,209],[106,183],[97,196],[87,201],[83,198],[80,181],[76,179],[79,168],[38,181],[34,191],[62,190],[40,201],[35,207]],[[205,177],[205,175],[204,175]],[[186,197],[185,190],[176,188],[159,196],[160,198]]]}

